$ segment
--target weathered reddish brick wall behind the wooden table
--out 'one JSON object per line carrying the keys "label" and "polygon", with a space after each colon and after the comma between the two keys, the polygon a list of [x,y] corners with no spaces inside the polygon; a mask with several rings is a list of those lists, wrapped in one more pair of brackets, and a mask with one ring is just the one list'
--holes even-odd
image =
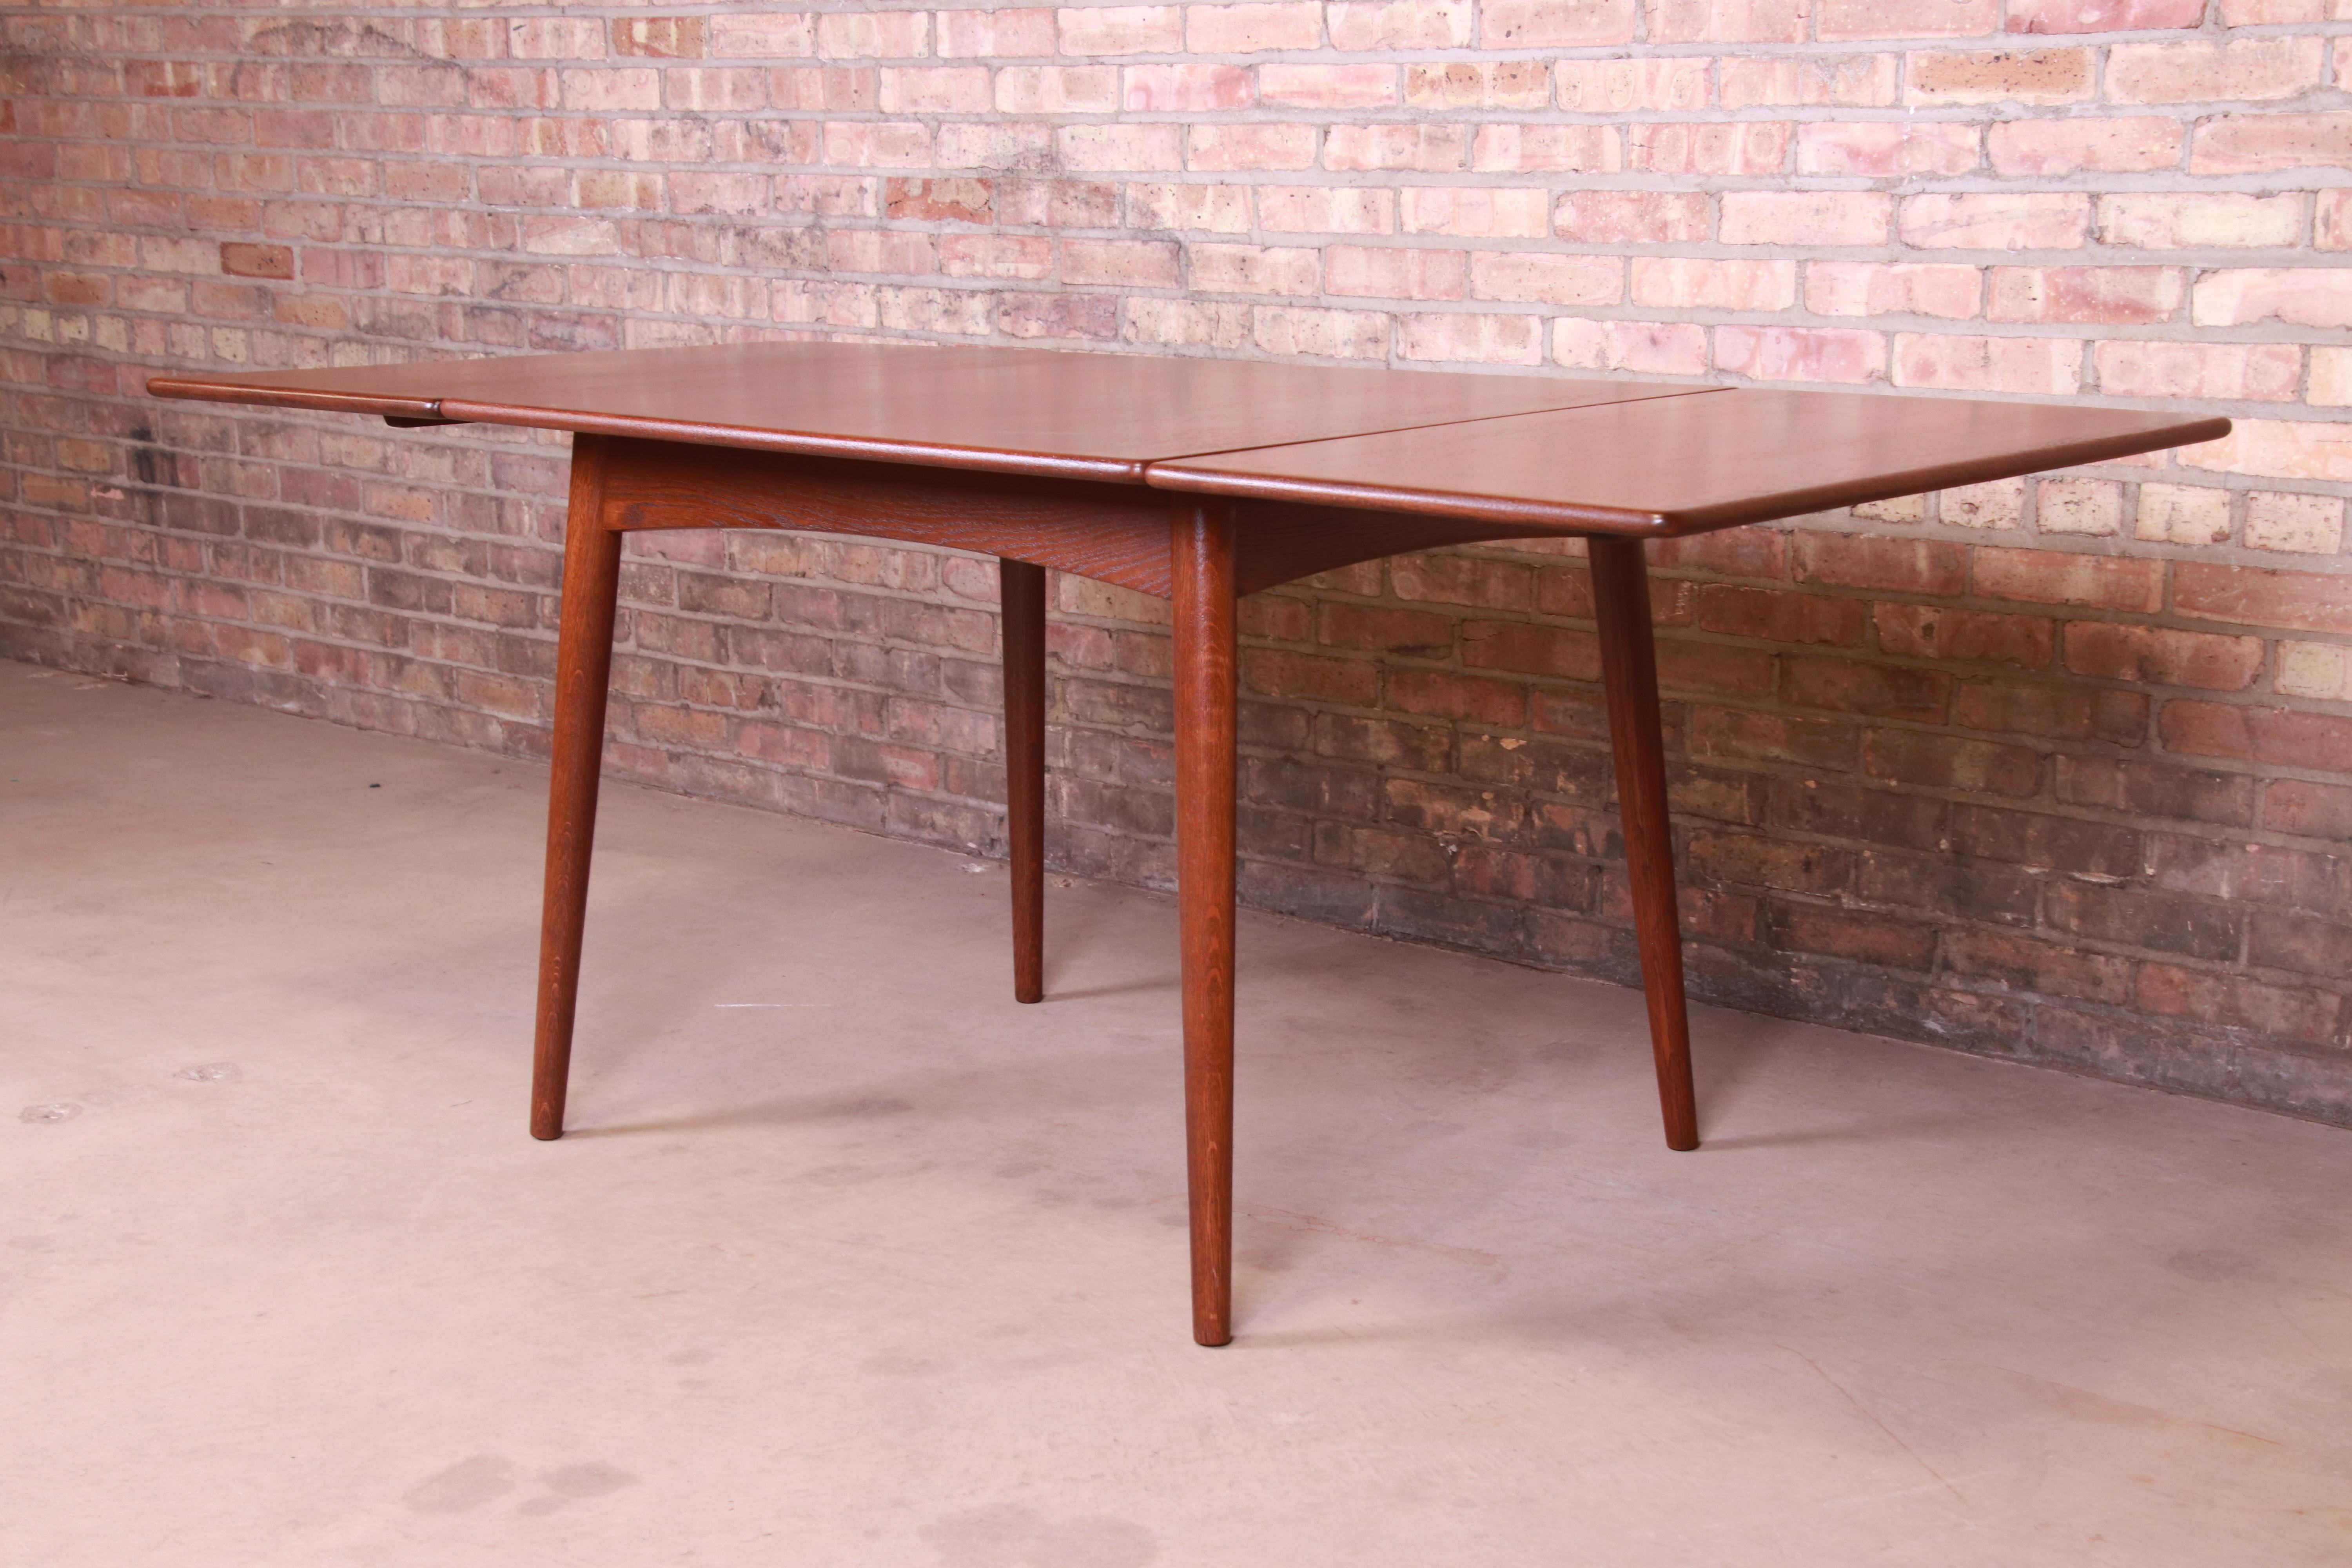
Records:
{"label": "weathered reddish brick wall behind the wooden table", "polygon": [[[16,7],[0,651],[543,748],[562,449],[155,367],[776,334],[2211,409],[1668,545],[1693,987],[2352,1121],[2352,5]],[[637,541],[614,766],[1000,839],[993,571]],[[1247,896],[1630,976],[1585,576],[1249,604]],[[1169,877],[1056,585],[1054,856]],[[1566,1025],[1564,1025],[1566,1027]]]}

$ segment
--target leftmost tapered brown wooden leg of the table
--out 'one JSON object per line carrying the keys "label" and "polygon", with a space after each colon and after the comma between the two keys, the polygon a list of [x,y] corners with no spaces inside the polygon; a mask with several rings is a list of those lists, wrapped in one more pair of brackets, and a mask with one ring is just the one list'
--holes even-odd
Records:
{"label": "leftmost tapered brown wooden leg of the table", "polygon": [[574,437],[562,623],[555,635],[555,771],[548,780],[548,891],[539,922],[532,1138],[564,1135],[572,1013],[581,990],[588,856],[595,849],[595,788],[604,764],[604,691],[612,679],[612,618],[621,590],[621,534],[604,527],[604,463],[602,437]]}

